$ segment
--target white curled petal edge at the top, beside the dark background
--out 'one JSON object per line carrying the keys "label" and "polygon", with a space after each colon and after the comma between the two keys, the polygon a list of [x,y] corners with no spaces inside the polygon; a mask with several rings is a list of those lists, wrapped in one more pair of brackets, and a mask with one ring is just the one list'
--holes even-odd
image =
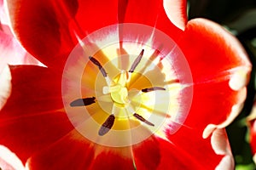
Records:
{"label": "white curled petal edge at the top, beside the dark background", "polygon": [[164,8],[166,10],[166,15],[172,23],[181,30],[185,30],[187,16],[185,1],[183,0],[164,0]]}

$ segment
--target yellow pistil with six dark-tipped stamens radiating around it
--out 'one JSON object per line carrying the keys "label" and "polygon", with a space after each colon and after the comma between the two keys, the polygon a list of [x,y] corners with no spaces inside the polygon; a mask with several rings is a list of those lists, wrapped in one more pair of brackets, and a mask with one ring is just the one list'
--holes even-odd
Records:
{"label": "yellow pistil with six dark-tipped stamens radiating around it", "polygon": [[[129,77],[131,77],[131,75],[133,74],[137,65],[141,61],[141,59],[143,57],[143,52],[144,52],[144,49],[141,51],[141,53],[137,56],[137,59],[135,59],[135,61],[131,65],[131,69],[130,69],[129,72],[122,70],[122,71],[120,71],[118,76],[113,78],[113,80],[111,80],[108,77],[108,73],[102,67],[101,63],[97,59],[95,59],[93,57],[89,57],[90,61],[94,65],[96,65],[98,67],[98,69],[101,71],[102,76],[105,77],[106,83],[108,85],[108,86],[104,86],[102,88],[102,94],[103,95],[102,96],[99,95],[97,97],[97,99],[100,99],[100,100],[102,99],[103,102],[113,103],[112,111],[111,112],[107,111],[107,112],[111,113],[111,115],[108,116],[107,120],[105,122],[103,122],[102,127],[99,129],[98,134],[100,136],[105,135],[106,133],[109,132],[109,130],[113,127],[115,116],[118,115],[118,114],[119,114],[119,118],[125,117],[125,119],[127,119],[127,117],[129,118],[132,115],[132,116],[136,117],[137,120],[139,120],[141,122],[144,122],[144,123],[146,123],[150,126],[154,126],[154,123],[148,122],[143,116],[137,114],[137,112],[134,110],[136,105],[132,104],[132,98],[135,98],[134,94],[140,96],[139,90],[133,89],[131,91],[128,91],[128,89],[127,89],[127,83],[129,82]],[[148,93],[148,92],[152,92],[154,90],[166,90],[166,89],[165,88],[159,88],[159,87],[144,88],[144,89],[141,90],[141,92]],[[111,100],[108,98],[108,94],[110,94],[110,97],[111,97],[110,99]],[[129,99],[129,94],[131,96],[131,99]],[[84,100],[87,100],[87,99],[89,99],[89,98],[75,99],[71,103],[71,106],[91,105],[91,104],[94,103],[94,101],[91,102],[91,103],[84,103]],[[93,100],[94,99],[95,98],[93,98]],[[99,100],[99,103],[101,103],[100,100]],[[136,99],[136,102],[138,104],[140,104],[142,101],[138,101]],[[101,107],[105,108],[104,104],[102,104]],[[119,111],[117,111],[117,109],[119,109]],[[126,116],[125,116],[125,113],[126,113]]]}

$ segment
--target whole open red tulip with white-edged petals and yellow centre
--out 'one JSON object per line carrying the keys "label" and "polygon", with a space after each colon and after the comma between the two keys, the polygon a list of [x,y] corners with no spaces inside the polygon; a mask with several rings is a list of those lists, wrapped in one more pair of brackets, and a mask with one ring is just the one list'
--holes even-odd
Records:
{"label": "whole open red tulip with white-edged petals and yellow centre", "polygon": [[10,65],[0,144],[29,169],[233,169],[251,65],[186,1],[7,0],[47,67]]}

